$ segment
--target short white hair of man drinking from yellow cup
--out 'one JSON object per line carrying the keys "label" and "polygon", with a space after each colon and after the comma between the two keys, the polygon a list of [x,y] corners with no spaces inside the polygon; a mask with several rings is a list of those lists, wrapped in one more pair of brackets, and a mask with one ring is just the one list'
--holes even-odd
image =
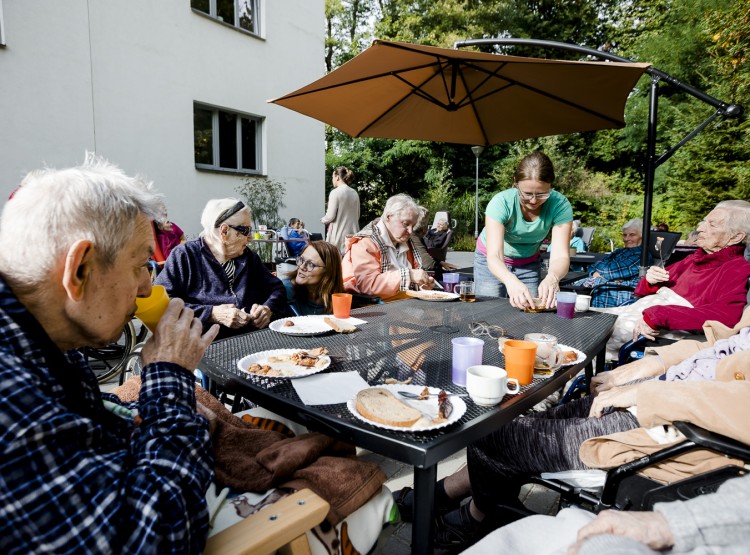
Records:
{"label": "short white hair of man drinking from yellow cup", "polygon": [[3,209],[0,272],[16,286],[44,282],[76,242],[88,240],[104,268],[133,236],[139,216],[159,217],[161,195],[104,158],[86,153],[82,165],[30,172]]}

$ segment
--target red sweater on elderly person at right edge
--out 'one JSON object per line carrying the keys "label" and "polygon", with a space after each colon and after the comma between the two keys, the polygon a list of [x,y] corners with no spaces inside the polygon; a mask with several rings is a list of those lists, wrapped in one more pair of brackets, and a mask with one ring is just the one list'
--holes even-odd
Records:
{"label": "red sweater on elderly person at right edge", "polygon": [[750,262],[743,256],[744,245],[726,247],[708,254],[698,249],[694,254],[667,266],[669,281],[649,285],[643,277],[635,288],[639,297],[653,295],[669,287],[690,301],[693,308],[666,305],[643,311],[643,320],[653,329],[699,330],[706,320],[718,320],[733,327],[740,321],[747,302]]}

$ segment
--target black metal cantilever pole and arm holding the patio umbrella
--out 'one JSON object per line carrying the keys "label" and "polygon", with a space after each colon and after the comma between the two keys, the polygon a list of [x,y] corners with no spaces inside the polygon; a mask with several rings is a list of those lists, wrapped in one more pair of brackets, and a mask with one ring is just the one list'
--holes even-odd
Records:
{"label": "black metal cantilever pole and arm holding the patio umbrella", "polygon": [[[564,42],[555,42],[548,40],[538,39],[471,39],[458,41],[454,44],[454,48],[461,48],[464,46],[536,46],[540,48],[550,48],[556,50],[568,50],[570,52],[577,52],[579,54],[586,54],[588,56],[595,56],[604,60],[610,60],[613,62],[623,63],[635,63],[633,60],[623,58],[609,52],[601,52],[588,48],[586,46],[579,46],[577,44],[568,44]],[[648,265],[648,252],[646,245],[649,244],[649,236],[651,231],[651,204],[653,202],[654,193],[654,176],[656,174],[656,168],[661,166],[664,162],[669,160],[677,150],[687,143],[690,139],[695,137],[703,129],[706,128],[712,121],[718,117],[727,119],[738,118],[742,115],[743,108],[739,104],[728,104],[721,100],[714,98],[711,95],[704,93],[691,87],[690,85],[683,83],[679,79],[672,77],[671,75],[664,73],[654,67],[650,67],[646,70],[651,76],[651,88],[650,88],[650,102],[648,110],[648,138],[646,145],[646,164],[645,164],[645,177],[644,177],[644,202],[643,202],[643,251],[641,253],[641,272],[645,273]],[[716,111],[706,118],[700,125],[695,129],[687,133],[675,146],[669,148],[664,153],[657,157],[656,155],[656,121],[658,115],[659,105],[659,83],[665,81],[672,86],[675,86],[689,95],[697,98],[698,100],[705,102],[706,104],[716,108]]]}

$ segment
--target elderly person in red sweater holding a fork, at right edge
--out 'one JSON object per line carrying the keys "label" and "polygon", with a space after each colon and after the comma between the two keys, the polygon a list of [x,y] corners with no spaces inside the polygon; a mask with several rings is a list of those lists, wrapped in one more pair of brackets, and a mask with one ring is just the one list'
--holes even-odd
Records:
{"label": "elderly person in red sweater holding a fork, at right edge", "polygon": [[635,289],[638,301],[601,310],[618,315],[607,343],[608,359],[616,359],[631,337],[700,330],[706,320],[729,327],[739,322],[750,278],[750,263],[743,256],[750,237],[750,202],[720,202],[697,230],[700,248],[666,268],[651,266]]}

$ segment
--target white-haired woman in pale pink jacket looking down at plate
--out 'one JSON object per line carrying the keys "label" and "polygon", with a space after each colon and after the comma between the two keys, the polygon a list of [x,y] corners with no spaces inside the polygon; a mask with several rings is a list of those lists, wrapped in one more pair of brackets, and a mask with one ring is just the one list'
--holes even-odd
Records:
{"label": "white-haired woman in pale pink jacket looking down at plate", "polygon": [[344,288],[388,298],[411,288],[432,289],[411,235],[419,218],[417,203],[406,194],[388,199],[376,223],[349,237],[342,261]]}

